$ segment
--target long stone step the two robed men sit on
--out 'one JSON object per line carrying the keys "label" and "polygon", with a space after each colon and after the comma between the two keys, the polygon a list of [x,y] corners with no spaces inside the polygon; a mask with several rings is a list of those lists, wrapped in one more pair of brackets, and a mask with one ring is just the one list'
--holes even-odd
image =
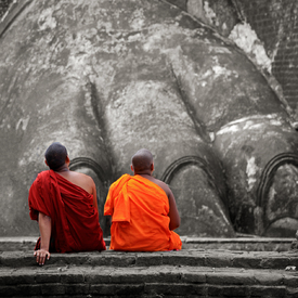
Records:
{"label": "long stone step the two robed men sit on", "polygon": [[[98,267],[156,267],[191,265],[211,268],[277,269],[298,268],[297,250],[290,251],[231,251],[185,249],[160,252],[120,252],[105,250],[102,252],[52,254],[50,265],[98,265]],[[36,265],[33,251],[0,252],[0,268],[25,268]]]}

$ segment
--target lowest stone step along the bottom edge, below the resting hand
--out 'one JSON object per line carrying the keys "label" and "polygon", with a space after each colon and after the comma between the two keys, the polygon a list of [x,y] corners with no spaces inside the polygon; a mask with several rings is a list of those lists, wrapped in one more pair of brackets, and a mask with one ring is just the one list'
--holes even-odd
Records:
{"label": "lowest stone step along the bottom edge, below the resting hand", "polygon": [[296,271],[200,265],[0,268],[0,297],[298,297]]}

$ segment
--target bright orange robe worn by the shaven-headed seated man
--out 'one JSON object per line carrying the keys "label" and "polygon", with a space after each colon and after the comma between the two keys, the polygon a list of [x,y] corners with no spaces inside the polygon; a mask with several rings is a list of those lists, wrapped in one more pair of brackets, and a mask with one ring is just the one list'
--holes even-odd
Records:
{"label": "bright orange robe worn by the shaven-headed seated man", "polygon": [[105,204],[105,215],[113,216],[111,249],[180,249],[179,235],[169,230],[169,200],[165,191],[142,176],[122,179],[125,183],[120,178],[112,185]]}

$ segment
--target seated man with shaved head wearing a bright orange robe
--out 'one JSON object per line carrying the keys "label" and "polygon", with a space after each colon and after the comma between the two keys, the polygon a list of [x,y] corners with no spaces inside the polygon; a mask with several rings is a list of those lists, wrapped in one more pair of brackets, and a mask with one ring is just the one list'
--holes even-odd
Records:
{"label": "seated man with shaved head wearing a bright orange robe", "polygon": [[112,216],[109,249],[126,251],[178,250],[173,232],[180,225],[169,186],[155,179],[153,156],[142,148],[131,159],[133,176],[124,174],[108,191],[104,215]]}

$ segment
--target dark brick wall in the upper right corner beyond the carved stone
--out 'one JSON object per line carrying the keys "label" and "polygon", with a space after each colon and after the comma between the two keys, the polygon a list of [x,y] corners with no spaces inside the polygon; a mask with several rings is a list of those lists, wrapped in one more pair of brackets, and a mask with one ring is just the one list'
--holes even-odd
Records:
{"label": "dark brick wall in the upper right corner beyond the carved stone", "polygon": [[272,75],[295,109],[298,105],[298,2],[296,0],[236,1],[245,20],[263,41],[272,61]]}

